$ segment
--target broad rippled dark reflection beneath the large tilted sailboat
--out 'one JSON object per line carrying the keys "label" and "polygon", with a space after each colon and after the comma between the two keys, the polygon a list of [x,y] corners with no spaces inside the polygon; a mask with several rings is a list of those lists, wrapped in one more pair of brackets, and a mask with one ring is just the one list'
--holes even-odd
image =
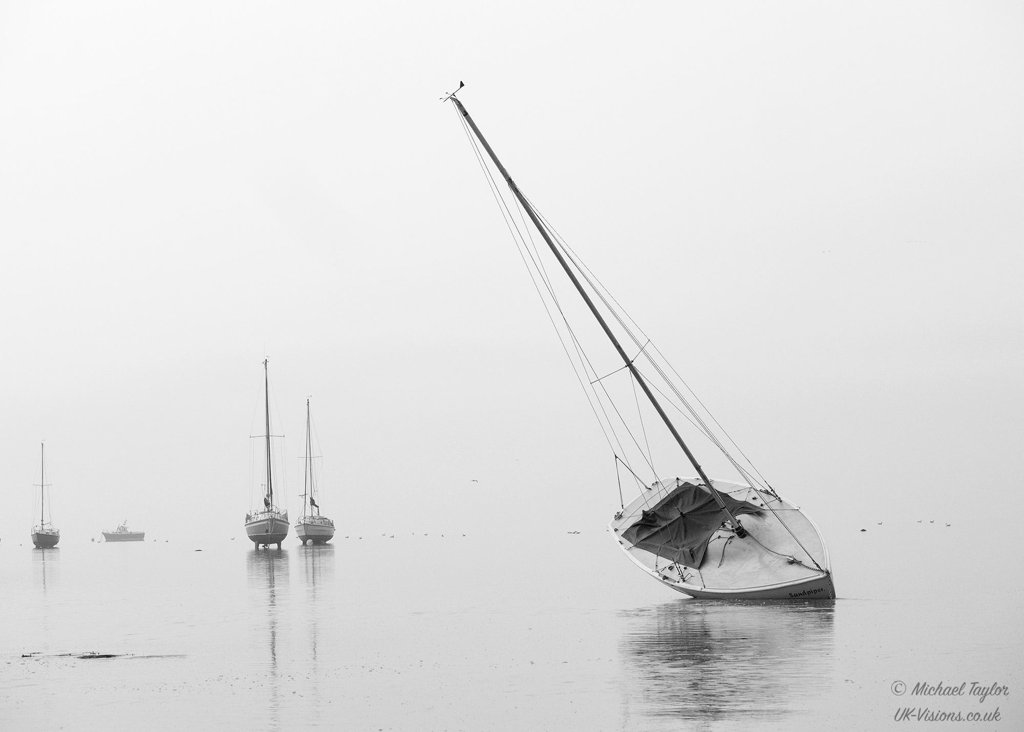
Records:
{"label": "broad rippled dark reflection beneath the large tilted sailboat", "polygon": [[694,729],[807,712],[835,683],[835,600],[678,600],[627,611],[624,712]]}

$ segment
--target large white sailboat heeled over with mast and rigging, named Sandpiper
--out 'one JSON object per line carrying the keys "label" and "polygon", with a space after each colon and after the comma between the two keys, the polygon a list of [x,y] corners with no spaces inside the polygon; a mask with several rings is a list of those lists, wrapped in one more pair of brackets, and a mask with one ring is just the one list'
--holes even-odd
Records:
{"label": "large white sailboat heeled over with mast and rigging, named Sandpiper", "polygon": [[[459,89],[462,87],[460,83]],[[577,369],[577,376],[587,392],[594,414],[605,431],[605,438],[614,453],[616,472],[620,465],[623,465],[637,482],[640,495],[627,505],[622,498],[620,481],[622,510],[615,513],[608,524],[620,548],[630,560],[658,582],[692,597],[790,600],[835,598],[828,551],[817,527],[797,506],[782,499],[771,488],[742,451],[735,448],[735,443],[721,429],[699,400],[692,396],[692,392],[689,393],[690,398],[684,396],[684,392],[689,390],[682,378],[522,193],[483,138],[466,107],[456,97],[456,92],[442,97],[442,100],[451,100],[458,111],[492,193],[502,209],[506,225],[516,240],[520,255],[534,278],[534,284],[548,309],[551,322],[562,338],[565,353]],[[512,202],[505,199],[486,165],[486,157],[490,158],[508,185],[513,195]],[[566,314],[567,305],[558,301],[557,286],[541,260],[543,247],[535,244],[522,214],[528,217],[540,233],[625,365],[620,364],[615,370],[608,367],[610,373],[604,368],[599,373],[595,368],[591,356],[583,350],[570,324]],[[626,352],[620,334],[631,340],[631,351],[639,350],[635,357],[631,358]],[[647,373],[640,369],[641,356]],[[610,396],[609,390],[614,386],[608,385],[612,381],[609,377],[614,374],[618,374],[615,378],[625,379],[627,375],[630,378],[629,385],[633,387],[633,396],[637,399],[640,426],[643,427],[643,416],[636,386],[640,387],[651,410],[664,422],[672,436],[672,442],[685,454],[696,475],[689,478],[658,476],[650,457],[646,427],[643,427],[643,432],[638,438],[639,430],[631,430],[623,412],[615,407]],[[655,396],[655,392],[662,399]],[[721,450],[744,482],[710,479],[676,429],[662,400]],[[711,424],[718,429],[713,429]],[[628,440],[620,440],[623,437],[623,426],[633,439],[632,446]],[[741,457],[726,450],[726,443],[731,444],[735,453]],[[629,451],[635,446],[636,452],[641,454],[646,467],[655,476],[652,483],[642,479],[630,466],[630,461],[624,457],[627,452],[624,445],[628,446]],[[641,467],[637,464],[638,468]]]}

